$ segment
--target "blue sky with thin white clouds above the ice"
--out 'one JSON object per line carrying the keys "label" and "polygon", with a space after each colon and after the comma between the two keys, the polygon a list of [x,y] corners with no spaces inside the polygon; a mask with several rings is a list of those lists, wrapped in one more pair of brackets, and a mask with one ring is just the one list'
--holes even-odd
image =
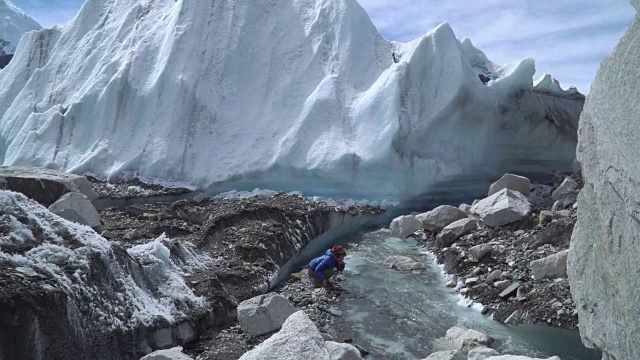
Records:
{"label": "blue sky with thin white clouds above the ice", "polygon": [[[83,0],[12,0],[44,27],[63,25]],[[602,59],[631,24],[629,0],[358,0],[380,33],[406,42],[449,22],[498,64],[536,60],[564,88],[589,92]]]}

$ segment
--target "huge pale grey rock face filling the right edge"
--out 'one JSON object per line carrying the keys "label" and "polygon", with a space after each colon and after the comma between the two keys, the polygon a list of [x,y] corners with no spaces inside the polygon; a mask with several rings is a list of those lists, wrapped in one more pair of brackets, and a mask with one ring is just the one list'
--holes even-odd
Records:
{"label": "huge pale grey rock face filling the right edge", "polygon": [[640,359],[639,41],[636,16],[602,62],[580,117],[585,184],[568,273],[582,340],[606,359]]}

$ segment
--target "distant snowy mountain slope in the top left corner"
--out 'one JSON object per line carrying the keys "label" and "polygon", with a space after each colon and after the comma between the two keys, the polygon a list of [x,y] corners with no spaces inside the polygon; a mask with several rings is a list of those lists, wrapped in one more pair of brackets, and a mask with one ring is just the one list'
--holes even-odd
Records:
{"label": "distant snowy mountain slope in the top left corner", "polygon": [[40,29],[42,26],[38,22],[10,0],[0,0],[0,52],[12,54],[24,33]]}

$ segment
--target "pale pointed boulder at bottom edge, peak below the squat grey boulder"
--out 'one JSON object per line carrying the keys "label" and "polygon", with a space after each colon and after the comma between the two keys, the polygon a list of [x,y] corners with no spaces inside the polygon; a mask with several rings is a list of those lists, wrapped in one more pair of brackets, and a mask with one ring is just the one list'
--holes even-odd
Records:
{"label": "pale pointed boulder at bottom edge, peak below the squat grey boulder", "polygon": [[287,319],[282,329],[240,360],[332,360],[320,331],[304,311]]}

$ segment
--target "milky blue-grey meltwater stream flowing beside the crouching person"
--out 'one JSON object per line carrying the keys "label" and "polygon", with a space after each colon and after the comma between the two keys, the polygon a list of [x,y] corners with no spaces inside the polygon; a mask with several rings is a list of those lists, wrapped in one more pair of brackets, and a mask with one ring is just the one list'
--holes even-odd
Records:
{"label": "milky blue-grey meltwater stream flowing beside the crouching person", "polygon": [[[350,239],[349,248],[343,283],[347,291],[338,305],[344,327],[339,332],[370,350],[370,359],[424,359],[432,352],[431,341],[455,325],[492,336],[501,354],[601,358],[582,346],[577,331],[505,326],[465,306],[455,290],[445,286],[433,255],[415,241],[390,238],[387,230],[380,230]],[[427,269],[397,272],[386,264],[391,255],[410,256]]]}

